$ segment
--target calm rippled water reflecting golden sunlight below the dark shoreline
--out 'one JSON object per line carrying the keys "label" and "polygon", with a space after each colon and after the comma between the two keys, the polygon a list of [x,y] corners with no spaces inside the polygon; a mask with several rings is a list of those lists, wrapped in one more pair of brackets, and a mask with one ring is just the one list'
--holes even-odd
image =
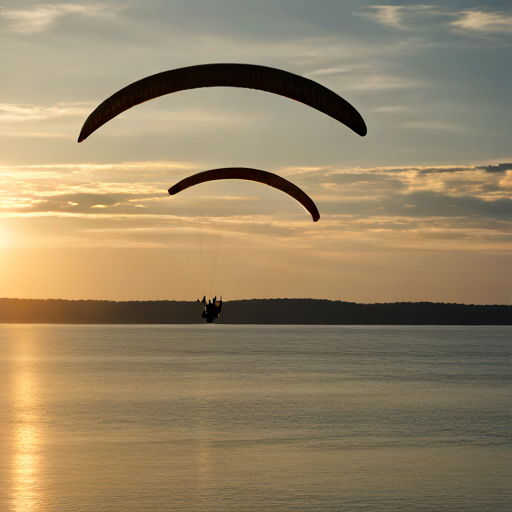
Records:
{"label": "calm rippled water reflecting golden sunlight below the dark shoreline", "polygon": [[510,511],[507,327],[0,325],[0,510]]}

